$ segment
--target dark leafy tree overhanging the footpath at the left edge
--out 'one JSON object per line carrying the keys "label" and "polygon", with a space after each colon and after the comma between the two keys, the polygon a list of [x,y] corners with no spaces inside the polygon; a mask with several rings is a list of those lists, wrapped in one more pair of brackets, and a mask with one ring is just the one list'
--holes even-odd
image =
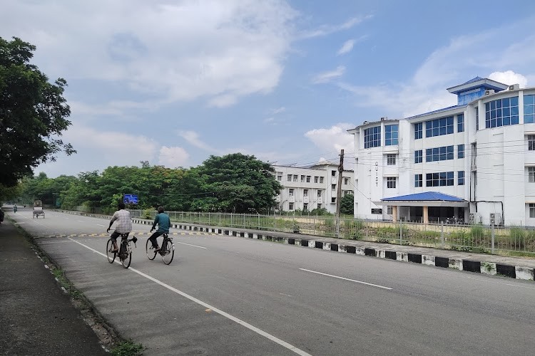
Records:
{"label": "dark leafy tree overhanging the footpath at the left edge", "polygon": [[58,152],[76,151],[59,138],[71,122],[63,98],[66,80],[49,83],[30,63],[36,47],[0,37],[0,184],[14,186],[40,163],[55,161]]}

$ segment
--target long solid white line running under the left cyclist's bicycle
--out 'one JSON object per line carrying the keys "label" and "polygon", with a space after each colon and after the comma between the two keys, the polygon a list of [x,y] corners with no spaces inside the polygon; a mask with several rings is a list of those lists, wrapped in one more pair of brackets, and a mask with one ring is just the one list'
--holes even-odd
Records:
{"label": "long solid white line running under the left cyclist's bicycle", "polygon": [[[101,252],[99,252],[99,251],[96,251],[94,248],[91,248],[91,247],[89,247],[89,246],[87,246],[87,245],[81,244],[80,242],[78,242],[78,241],[76,241],[76,240],[73,240],[73,239],[71,239],[70,237],[68,237],[67,239],[69,239],[69,240],[71,240],[71,241],[73,241],[73,242],[76,242],[76,244],[81,245],[81,246],[83,246],[83,247],[85,247],[85,248],[88,248],[89,250],[91,250],[91,251],[93,251],[93,252],[95,252],[95,253],[98,253],[99,255],[101,255],[101,256],[103,256],[103,257],[108,258],[108,256],[106,256],[104,253],[101,253]],[[117,261],[117,260],[116,260],[116,263],[121,264],[121,261]],[[138,273],[138,275],[143,276],[143,277],[147,278],[148,280],[151,280],[151,281],[153,281],[153,282],[155,282],[155,283],[158,283],[160,286],[165,287],[165,288],[167,288],[168,290],[171,290],[171,291],[173,291],[173,292],[175,292],[175,293],[177,293],[177,294],[179,294],[179,295],[182,295],[184,298],[188,298],[189,300],[191,300],[191,301],[193,301],[193,302],[195,302],[195,303],[197,303],[197,304],[199,304],[199,305],[203,305],[203,307],[205,307],[205,308],[208,308],[208,309],[213,310],[215,313],[218,313],[219,315],[223,315],[225,318],[228,318],[228,319],[230,319],[230,320],[233,320],[235,323],[238,323],[238,324],[240,324],[240,325],[242,325],[242,326],[245,326],[245,328],[248,328],[249,330],[252,330],[252,331],[254,331],[254,332],[257,333],[257,334],[262,335],[263,337],[266,337],[267,339],[269,339],[269,340],[271,340],[271,341],[273,341],[273,342],[276,342],[277,344],[279,344],[279,345],[281,345],[281,346],[283,346],[283,347],[286,347],[288,350],[291,350],[291,351],[295,352],[297,355],[301,355],[301,356],[312,356],[312,355],[310,355],[309,353],[307,353],[307,352],[305,352],[305,351],[303,351],[303,350],[301,350],[301,349],[295,347],[294,345],[291,345],[291,344],[289,344],[288,342],[285,342],[284,340],[280,340],[280,339],[279,339],[278,337],[276,337],[276,336],[273,336],[273,335],[271,335],[271,334],[266,333],[264,330],[260,330],[259,328],[256,328],[255,326],[250,325],[249,323],[247,323],[247,322],[245,322],[245,321],[243,321],[243,320],[241,320],[241,319],[238,319],[238,318],[236,318],[235,316],[230,315],[229,313],[224,312],[223,310],[220,310],[220,309],[218,309],[218,308],[215,308],[215,307],[213,307],[212,305],[203,302],[202,300],[199,300],[199,299],[197,299],[197,298],[195,298],[195,297],[193,297],[193,296],[191,296],[191,295],[189,295],[189,294],[187,294],[187,293],[184,293],[184,292],[181,291],[181,290],[178,290],[178,289],[176,289],[176,288],[174,288],[174,287],[169,286],[168,284],[163,283],[162,281],[159,281],[159,280],[156,279],[156,278],[153,278],[153,277],[151,277],[151,276],[148,276],[147,274],[145,274],[145,273],[143,273],[143,272],[141,272],[141,271],[138,271],[138,270],[136,270],[135,268],[128,268],[128,270],[129,270],[129,271],[133,271],[133,272],[135,272],[135,273]]]}

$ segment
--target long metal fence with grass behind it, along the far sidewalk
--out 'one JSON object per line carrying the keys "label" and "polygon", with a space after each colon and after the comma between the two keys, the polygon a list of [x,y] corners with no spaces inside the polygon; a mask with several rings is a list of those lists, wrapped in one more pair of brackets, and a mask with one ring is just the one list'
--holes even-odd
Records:
{"label": "long metal fence with grass behind it, along the far sidewalk", "polygon": [[[156,211],[131,210],[154,219]],[[419,224],[335,216],[287,216],[168,211],[171,221],[241,229],[280,231],[474,253],[535,256],[535,229],[526,226]]]}

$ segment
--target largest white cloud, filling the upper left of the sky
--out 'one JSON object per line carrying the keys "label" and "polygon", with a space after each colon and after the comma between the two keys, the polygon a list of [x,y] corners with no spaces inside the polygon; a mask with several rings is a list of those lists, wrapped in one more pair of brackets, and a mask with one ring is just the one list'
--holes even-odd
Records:
{"label": "largest white cloud, filling the upper left of the sky", "polygon": [[282,0],[6,0],[2,14],[0,36],[34,43],[51,78],[221,107],[275,88],[297,11]]}

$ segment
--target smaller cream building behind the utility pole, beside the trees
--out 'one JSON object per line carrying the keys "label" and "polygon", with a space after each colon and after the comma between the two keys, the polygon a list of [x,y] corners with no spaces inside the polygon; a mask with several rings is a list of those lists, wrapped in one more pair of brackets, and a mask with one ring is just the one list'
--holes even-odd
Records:
{"label": "smaller cream building behind the utility pole, beside the trees", "polygon": [[[272,166],[275,179],[284,186],[277,196],[277,209],[312,211],[325,208],[336,212],[338,165],[325,162],[310,167]],[[342,172],[342,197],[353,194],[353,171]]]}

